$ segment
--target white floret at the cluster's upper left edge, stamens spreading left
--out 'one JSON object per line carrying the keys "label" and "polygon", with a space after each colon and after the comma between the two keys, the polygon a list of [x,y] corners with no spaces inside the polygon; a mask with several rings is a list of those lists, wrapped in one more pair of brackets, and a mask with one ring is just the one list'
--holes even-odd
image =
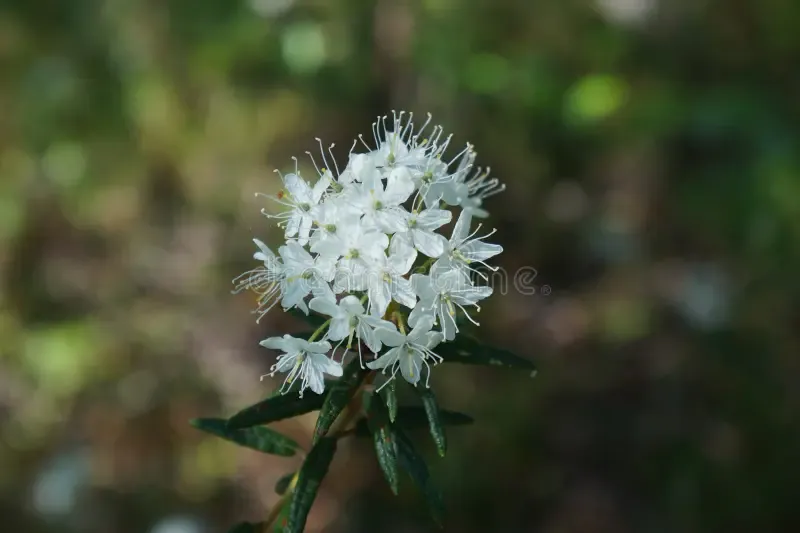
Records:
{"label": "white floret at the cluster's upper left edge, stamens spreading left", "polygon": [[262,209],[262,213],[269,218],[281,219],[279,225],[286,228],[284,236],[287,239],[297,237],[297,242],[305,245],[308,242],[308,235],[313,223],[311,210],[319,203],[323,193],[328,189],[330,173],[323,173],[313,188],[298,175],[297,170],[295,173],[281,176],[281,179],[283,179],[286,190],[279,192],[277,196],[268,196],[268,198],[288,207],[289,210],[271,215]]}

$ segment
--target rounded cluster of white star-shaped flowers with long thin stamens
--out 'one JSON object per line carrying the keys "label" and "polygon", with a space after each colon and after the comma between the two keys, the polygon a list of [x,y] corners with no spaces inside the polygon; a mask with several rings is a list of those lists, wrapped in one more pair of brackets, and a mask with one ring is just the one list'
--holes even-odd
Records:
{"label": "rounded cluster of white star-shaped flowers with long thin stamens", "polygon": [[[502,247],[484,242],[494,231],[476,237],[481,226],[470,232],[470,225],[473,217],[487,216],[483,199],[504,187],[488,169],[473,167],[469,144],[442,161],[451,136],[435,126],[425,137],[430,115],[417,131],[413,115],[404,116],[374,123],[375,147],[359,137],[367,152],[355,153],[354,143],[342,172],[335,162],[328,166],[322,150],[324,166],[311,158],[317,176],[309,183],[295,159],[295,172],[281,175],[284,188],[268,197],[284,208],[262,212],[280,221],[286,244],[276,255],[254,239],[254,258],[263,265],[234,280],[237,290],[258,294],[259,318],[278,302],[329,317],[309,340],[284,335],[261,342],[283,352],[269,375],[288,373],[284,392],[299,378],[301,395],[306,388],[322,393],[323,374],[342,374],[334,354],[344,343],[343,353],[357,349],[362,366],[363,345],[376,356],[369,368],[390,380],[400,371],[416,385],[423,367],[430,377],[431,365],[441,361],[433,348],[455,338],[458,311],[477,324],[466,306],[479,309],[478,301],[492,293],[473,284],[471,273],[486,279],[475,266],[495,270],[485,261]],[[448,206],[460,208],[449,238],[437,232],[452,220]]]}

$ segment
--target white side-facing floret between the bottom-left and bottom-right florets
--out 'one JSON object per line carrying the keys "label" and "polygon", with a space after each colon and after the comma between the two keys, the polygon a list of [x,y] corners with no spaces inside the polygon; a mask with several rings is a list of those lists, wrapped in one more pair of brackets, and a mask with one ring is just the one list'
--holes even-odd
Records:
{"label": "white side-facing floret between the bottom-left and bottom-right florets", "polygon": [[358,357],[362,361],[362,368],[364,365],[361,343],[363,342],[373,353],[379,352],[382,345],[380,339],[375,335],[375,328],[392,326],[391,322],[365,314],[364,306],[353,295],[345,296],[337,303],[333,292],[328,292],[313,298],[308,306],[320,314],[331,317],[326,336],[332,341],[344,342],[346,339],[345,351],[352,347],[353,337],[359,341],[357,343]]}

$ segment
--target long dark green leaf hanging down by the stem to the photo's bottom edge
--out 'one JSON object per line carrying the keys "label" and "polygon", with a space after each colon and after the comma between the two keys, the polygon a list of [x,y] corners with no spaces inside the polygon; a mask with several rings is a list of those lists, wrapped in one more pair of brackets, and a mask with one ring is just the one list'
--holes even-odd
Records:
{"label": "long dark green leaf hanging down by the stem to the photo's bottom edge", "polygon": [[317,497],[317,491],[322,483],[328,467],[336,453],[336,439],[323,437],[311,448],[303,466],[292,494],[289,506],[289,518],[286,525],[288,533],[302,533],[306,526],[306,518],[311,510],[311,505]]}

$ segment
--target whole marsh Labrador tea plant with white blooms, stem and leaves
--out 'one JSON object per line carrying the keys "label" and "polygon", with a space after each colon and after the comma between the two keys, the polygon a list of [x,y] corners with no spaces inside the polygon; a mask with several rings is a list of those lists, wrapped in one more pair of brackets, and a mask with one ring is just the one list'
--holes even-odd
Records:
{"label": "whole marsh Labrador tea plant with white blooms, stem and leaves", "polygon": [[[450,362],[532,369],[461,331],[465,323],[478,325],[479,303],[492,294],[480,282],[503,250],[487,242],[494,230],[473,229],[473,219],[488,216],[483,200],[504,186],[488,168],[474,166],[469,144],[446,160],[452,136],[431,127],[430,115],[419,128],[412,114],[381,117],[372,136],[374,144],[363,137],[353,143],[341,171],[319,140],[321,154],[309,153],[316,170],[310,180],[295,159],[294,172],[281,175],[283,189],[266,196],[271,205],[262,211],[278,221],[286,242],[276,254],[254,239],[261,264],[234,280],[235,292],[257,295],[259,320],[280,304],[314,329],[261,341],[278,354],[268,374],[282,378],[275,395],[229,419],[192,423],[242,446],[292,456],[300,445],[266,424],[311,411],[319,416],[302,466],[276,486],[282,499],[264,521],[232,531],[302,532],[346,436],[373,440],[395,494],[398,472],[410,474],[441,524],[441,496],[409,433],[428,427],[444,456],[445,426],[472,419],[439,408],[431,373]],[[402,381],[418,405],[398,405]]]}

